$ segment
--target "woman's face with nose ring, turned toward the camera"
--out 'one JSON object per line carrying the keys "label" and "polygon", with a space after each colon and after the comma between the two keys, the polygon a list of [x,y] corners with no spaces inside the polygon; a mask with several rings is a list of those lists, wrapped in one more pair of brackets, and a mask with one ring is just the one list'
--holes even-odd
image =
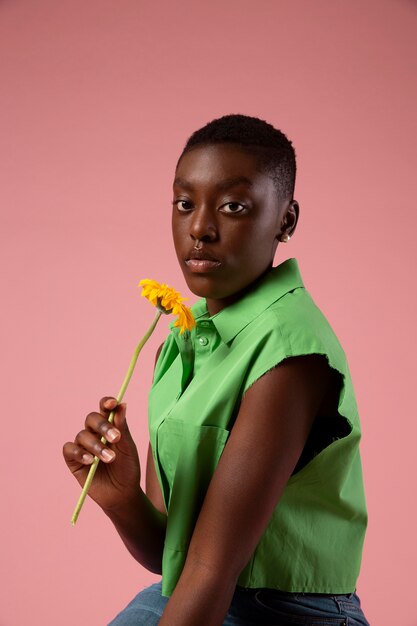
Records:
{"label": "woman's face with nose ring, turned toward the camera", "polygon": [[280,202],[256,158],[234,144],[186,152],[174,180],[172,231],[189,289],[210,315],[271,268],[291,202]]}

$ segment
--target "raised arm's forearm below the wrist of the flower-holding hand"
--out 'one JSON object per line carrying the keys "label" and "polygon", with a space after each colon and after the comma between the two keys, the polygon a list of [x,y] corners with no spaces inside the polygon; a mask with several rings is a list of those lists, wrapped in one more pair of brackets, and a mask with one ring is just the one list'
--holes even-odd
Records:
{"label": "raised arm's forearm below the wrist of the flower-holding hand", "polygon": [[142,489],[133,501],[105,513],[136,561],[161,574],[167,516],[153,506]]}

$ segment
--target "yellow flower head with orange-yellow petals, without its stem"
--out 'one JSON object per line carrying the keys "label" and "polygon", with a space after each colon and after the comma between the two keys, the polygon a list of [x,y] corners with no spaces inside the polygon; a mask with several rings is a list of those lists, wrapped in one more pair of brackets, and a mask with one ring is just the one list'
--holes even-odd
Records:
{"label": "yellow flower head with orange-yellow petals, without its stem", "polygon": [[172,287],[157,283],[156,280],[144,278],[139,285],[142,287],[142,296],[147,298],[162,313],[177,315],[174,326],[180,327],[180,333],[191,330],[195,326],[194,316],[191,309],[183,304],[187,298],[182,298],[178,291]]}

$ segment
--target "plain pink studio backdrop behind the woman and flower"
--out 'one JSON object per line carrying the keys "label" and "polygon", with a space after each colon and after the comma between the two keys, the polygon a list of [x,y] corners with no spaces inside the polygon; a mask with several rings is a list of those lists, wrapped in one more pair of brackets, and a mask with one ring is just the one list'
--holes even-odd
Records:
{"label": "plain pink studio backdrop behind the woman and flower", "polygon": [[[153,312],[186,293],[170,237],[188,135],[229,112],[282,128],[301,221],[277,262],[349,357],[370,512],[358,592],[373,626],[415,596],[417,4],[411,0],[0,1],[0,624],[97,626],[156,577],[79,489],[62,443],[116,394]],[[129,389],[144,463],[160,325]]]}

